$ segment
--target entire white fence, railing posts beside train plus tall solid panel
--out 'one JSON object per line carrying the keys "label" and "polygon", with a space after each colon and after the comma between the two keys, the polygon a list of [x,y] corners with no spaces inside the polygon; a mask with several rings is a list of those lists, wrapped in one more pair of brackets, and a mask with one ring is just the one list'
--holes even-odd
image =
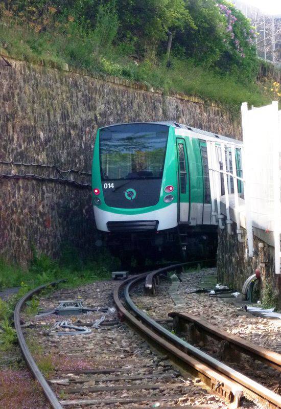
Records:
{"label": "entire white fence, railing posts beside train plus tall solid panel", "polygon": [[277,102],[250,110],[243,103],[241,110],[243,145],[235,140],[207,141],[211,223],[224,229],[226,217],[227,233],[231,235],[235,220],[238,240],[243,242],[242,220],[249,257],[254,253],[253,228],[273,232],[275,272],[280,274],[281,111]]}

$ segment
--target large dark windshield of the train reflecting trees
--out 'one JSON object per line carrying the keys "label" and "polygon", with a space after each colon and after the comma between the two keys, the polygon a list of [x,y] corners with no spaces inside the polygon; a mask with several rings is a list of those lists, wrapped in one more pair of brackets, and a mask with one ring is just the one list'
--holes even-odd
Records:
{"label": "large dark windshield of the train reflecting trees", "polygon": [[169,127],[115,125],[100,130],[102,180],[161,178]]}

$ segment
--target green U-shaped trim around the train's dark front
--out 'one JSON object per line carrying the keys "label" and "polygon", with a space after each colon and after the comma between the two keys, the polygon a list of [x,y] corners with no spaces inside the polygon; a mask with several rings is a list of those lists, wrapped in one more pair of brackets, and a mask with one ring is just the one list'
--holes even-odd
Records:
{"label": "green U-shaped trim around the train's dark front", "polygon": [[[169,127],[167,151],[166,151],[166,157],[165,157],[165,165],[163,169],[163,178],[162,178],[162,186],[161,186],[159,201],[155,206],[138,208],[138,209],[113,208],[113,207],[109,207],[106,205],[104,201],[104,196],[103,196],[101,171],[100,171],[99,134],[100,132],[98,130],[97,138],[95,142],[95,148],[93,150],[93,161],[92,161],[92,189],[98,188],[101,192],[99,195],[99,198],[101,199],[101,205],[99,205],[99,209],[107,211],[107,212],[118,213],[118,214],[136,215],[136,214],[147,213],[147,212],[151,212],[154,210],[162,209],[167,206],[170,206],[172,203],[177,202],[177,199],[178,199],[177,189],[176,189],[177,162],[175,161],[176,148],[175,148],[175,135],[174,135],[173,127]],[[170,203],[165,203],[163,201],[163,198],[167,195],[167,193],[164,191],[164,188],[168,185],[172,185],[175,188],[173,191],[174,200]]]}

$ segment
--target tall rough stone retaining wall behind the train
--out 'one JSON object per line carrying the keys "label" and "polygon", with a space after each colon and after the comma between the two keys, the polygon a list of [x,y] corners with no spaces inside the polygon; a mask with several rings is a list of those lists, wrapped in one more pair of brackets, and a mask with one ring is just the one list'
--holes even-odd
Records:
{"label": "tall rough stone retaining wall behind the train", "polygon": [[[233,121],[215,104],[65,69],[0,56],[0,161],[90,172],[97,128],[118,122],[173,120],[241,138],[240,120]],[[0,173],[59,175],[53,168],[3,164]],[[69,177],[90,183],[86,175]],[[0,183],[0,256],[25,264],[33,245],[58,256],[66,242],[92,251],[96,232],[90,190],[40,180]]]}

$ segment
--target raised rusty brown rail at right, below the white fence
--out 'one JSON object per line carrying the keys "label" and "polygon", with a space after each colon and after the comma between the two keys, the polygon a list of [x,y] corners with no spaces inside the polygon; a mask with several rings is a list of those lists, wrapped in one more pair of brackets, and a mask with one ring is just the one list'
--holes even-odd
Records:
{"label": "raised rusty brown rail at right, below the white fence", "polygon": [[174,319],[175,327],[178,324],[180,326],[181,322],[188,322],[194,325],[198,332],[204,332],[206,335],[223,342],[226,341],[231,347],[235,347],[240,352],[252,356],[254,359],[260,360],[281,372],[281,354],[260,347],[239,336],[229,334],[215,325],[209,324],[206,320],[199,319],[195,315],[180,312],[170,312],[168,315]]}

